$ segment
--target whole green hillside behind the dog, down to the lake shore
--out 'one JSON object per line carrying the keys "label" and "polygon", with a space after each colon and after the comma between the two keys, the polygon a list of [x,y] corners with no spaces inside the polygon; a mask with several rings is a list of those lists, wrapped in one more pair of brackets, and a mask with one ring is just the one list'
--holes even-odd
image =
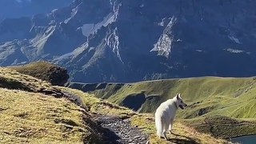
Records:
{"label": "whole green hillside behind the dog, down to the lake shore", "polygon": [[256,134],[256,78],[204,77],[69,86],[140,113],[154,113],[161,102],[181,93],[189,106],[178,110],[177,117],[198,130],[222,138]]}

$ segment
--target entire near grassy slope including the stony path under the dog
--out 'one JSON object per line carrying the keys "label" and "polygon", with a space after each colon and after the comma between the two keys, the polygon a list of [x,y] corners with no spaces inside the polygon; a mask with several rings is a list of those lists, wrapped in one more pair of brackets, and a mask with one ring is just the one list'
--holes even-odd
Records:
{"label": "entire near grassy slope including the stony path under the dog", "polygon": [[[165,143],[154,118],[94,95],[0,68],[1,143]],[[174,143],[224,143],[175,122]],[[122,133],[123,132],[123,133]],[[149,138],[148,138],[149,137]]]}

